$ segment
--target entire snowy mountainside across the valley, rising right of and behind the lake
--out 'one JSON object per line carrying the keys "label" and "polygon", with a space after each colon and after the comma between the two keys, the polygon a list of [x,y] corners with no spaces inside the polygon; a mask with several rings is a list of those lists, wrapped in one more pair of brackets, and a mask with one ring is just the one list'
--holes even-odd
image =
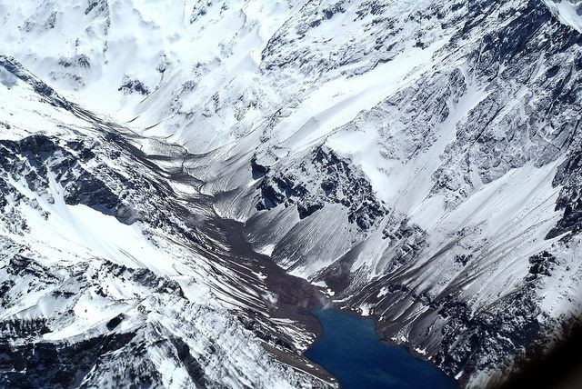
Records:
{"label": "entire snowy mountainside across the valley, rising right of and behind the lake", "polygon": [[2,2],[0,34],[462,384],[543,352],[581,310],[577,4],[263,3]]}

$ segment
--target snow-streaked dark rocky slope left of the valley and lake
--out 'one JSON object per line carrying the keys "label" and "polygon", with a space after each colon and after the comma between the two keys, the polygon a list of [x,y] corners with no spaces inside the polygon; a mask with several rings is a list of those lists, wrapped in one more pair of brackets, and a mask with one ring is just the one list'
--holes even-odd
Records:
{"label": "snow-streaked dark rocky slope left of the valley and lake", "polygon": [[299,356],[313,324],[279,319],[308,289],[180,191],[183,150],[146,155],[10,58],[0,76],[2,385],[329,385]]}

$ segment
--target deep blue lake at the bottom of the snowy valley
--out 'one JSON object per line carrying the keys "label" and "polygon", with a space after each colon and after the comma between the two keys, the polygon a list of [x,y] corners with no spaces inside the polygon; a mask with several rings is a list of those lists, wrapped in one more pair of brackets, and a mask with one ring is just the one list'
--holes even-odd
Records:
{"label": "deep blue lake at the bottom of the snowy valley", "polygon": [[434,364],[414,357],[405,347],[383,343],[373,321],[335,309],[313,314],[323,326],[323,336],[305,355],[334,374],[344,389],[457,387]]}

